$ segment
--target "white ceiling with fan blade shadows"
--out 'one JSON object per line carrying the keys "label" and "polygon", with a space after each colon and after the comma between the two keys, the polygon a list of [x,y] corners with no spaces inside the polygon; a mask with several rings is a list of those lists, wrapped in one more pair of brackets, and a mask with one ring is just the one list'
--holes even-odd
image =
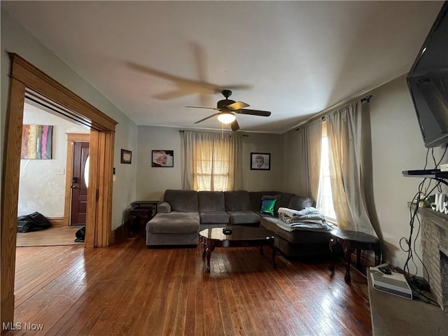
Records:
{"label": "white ceiling with fan blade shadows", "polygon": [[[219,129],[216,90],[283,133],[407,73],[442,1],[1,1],[137,125]],[[10,50],[13,51],[13,50]]]}

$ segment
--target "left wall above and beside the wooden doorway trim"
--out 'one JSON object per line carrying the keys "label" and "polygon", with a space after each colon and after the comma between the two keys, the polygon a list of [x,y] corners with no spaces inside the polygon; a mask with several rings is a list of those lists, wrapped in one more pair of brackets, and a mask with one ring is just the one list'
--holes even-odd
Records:
{"label": "left wall above and beside the wooden doorway trim", "polygon": [[[137,150],[137,125],[125,114],[113,106],[92,85],[81,78],[73,69],[62,62],[48,48],[45,48],[34,36],[18,25],[10,16],[1,11],[1,158],[3,158],[6,109],[8,106],[10,61],[6,52],[15,52],[31,64],[47,73],[59,83],[75,92],[87,102],[118,122],[115,135],[114,167],[116,182],[113,185],[112,228],[117,228],[123,220],[123,211],[129,207],[135,197],[135,171],[137,165],[120,164],[120,148]],[[2,166],[3,167],[3,166]]]}

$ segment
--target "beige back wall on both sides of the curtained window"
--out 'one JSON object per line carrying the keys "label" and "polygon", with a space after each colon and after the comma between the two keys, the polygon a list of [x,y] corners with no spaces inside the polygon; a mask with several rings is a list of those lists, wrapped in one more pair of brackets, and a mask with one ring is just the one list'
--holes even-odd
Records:
{"label": "beige back wall on both sides of the curtained window", "polygon": [[[281,189],[281,136],[244,133],[243,188]],[[174,151],[174,167],[151,167],[151,151]],[[271,153],[271,170],[250,169],[251,152]],[[137,150],[137,199],[159,200],[166,189],[181,189],[181,134],[172,127],[139,126]]]}

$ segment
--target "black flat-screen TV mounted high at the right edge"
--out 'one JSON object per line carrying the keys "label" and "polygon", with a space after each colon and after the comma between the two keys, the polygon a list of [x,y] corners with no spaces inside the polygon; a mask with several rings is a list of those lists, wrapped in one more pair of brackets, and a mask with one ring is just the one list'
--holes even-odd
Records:
{"label": "black flat-screen TV mounted high at the right edge", "polygon": [[425,146],[448,143],[448,1],[407,75]]}

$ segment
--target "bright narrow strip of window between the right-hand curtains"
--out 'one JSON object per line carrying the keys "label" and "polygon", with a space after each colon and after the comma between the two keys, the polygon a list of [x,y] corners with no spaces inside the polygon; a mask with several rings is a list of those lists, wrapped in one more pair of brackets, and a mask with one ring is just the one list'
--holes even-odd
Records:
{"label": "bright narrow strip of window between the right-hand curtains", "polygon": [[322,123],[321,176],[317,196],[317,208],[330,223],[336,223],[330,183],[330,152],[328,151],[327,123]]}

